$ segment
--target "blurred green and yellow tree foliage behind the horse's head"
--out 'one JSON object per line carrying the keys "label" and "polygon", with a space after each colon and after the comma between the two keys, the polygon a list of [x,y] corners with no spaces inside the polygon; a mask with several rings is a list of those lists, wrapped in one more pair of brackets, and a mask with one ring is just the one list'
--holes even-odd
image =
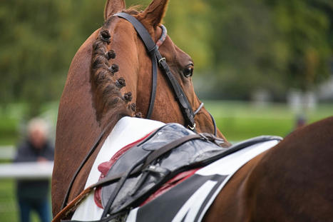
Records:
{"label": "blurred green and yellow tree foliage behind the horse's head", "polygon": [[[0,102],[27,101],[34,116],[60,98],[73,55],[103,24],[105,0],[0,4]],[[332,0],[170,1],[165,18],[210,99],[249,99],[265,89],[281,100],[290,87],[313,89],[329,74],[332,24]]]}

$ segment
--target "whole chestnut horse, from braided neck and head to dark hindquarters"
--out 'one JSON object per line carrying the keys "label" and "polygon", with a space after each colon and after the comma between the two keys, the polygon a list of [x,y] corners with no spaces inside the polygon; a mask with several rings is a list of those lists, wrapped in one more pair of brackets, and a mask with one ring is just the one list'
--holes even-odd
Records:
{"label": "whole chestnut horse, from braided neck and head to dark hindquarters", "polygon": [[[53,215],[61,211],[71,180],[91,147],[96,144],[96,150],[78,172],[65,204],[83,190],[103,140],[117,121],[123,116],[147,117],[152,62],[133,25],[113,15],[121,11],[131,14],[158,42],[163,36],[160,23],[167,5],[168,0],[153,0],[145,11],[138,12],[126,10],[124,0],[108,0],[105,24],[74,56],[58,112]],[[159,51],[192,109],[200,108],[190,77],[190,56],[168,36]],[[159,69],[157,89],[150,118],[187,124]],[[205,108],[195,115],[195,125],[198,132],[215,131]],[[332,135],[333,118],[327,118],[291,133],[274,148],[253,158],[230,179],[204,221],[332,221]],[[217,136],[225,140],[218,130]]]}

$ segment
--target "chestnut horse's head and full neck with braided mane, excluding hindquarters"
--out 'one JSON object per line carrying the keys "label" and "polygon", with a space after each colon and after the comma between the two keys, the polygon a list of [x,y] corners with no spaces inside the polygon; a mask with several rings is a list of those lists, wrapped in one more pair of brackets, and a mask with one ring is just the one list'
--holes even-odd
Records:
{"label": "chestnut horse's head and full neck with braided mane, excluding hindquarters", "polygon": [[[116,122],[123,116],[142,115],[145,118],[148,113],[152,85],[150,56],[132,24],[113,14],[119,11],[132,14],[142,22],[156,42],[163,31],[159,24],[167,3],[153,1],[145,11],[138,13],[135,9],[126,11],[123,0],[107,1],[104,12],[106,23],[86,40],[74,56],[58,109],[52,178],[53,214],[61,210],[71,178],[101,132],[106,131],[98,148],[78,173],[68,201],[82,191],[103,139]],[[101,38],[107,40],[102,41]],[[166,36],[159,51],[168,61],[190,106],[193,110],[198,109],[201,102],[195,95],[191,79],[193,60],[175,46],[169,36]],[[180,106],[160,69],[156,88],[150,118],[185,125]],[[204,107],[195,115],[195,125],[198,132],[214,132],[214,123]],[[224,138],[220,131],[216,133]]]}

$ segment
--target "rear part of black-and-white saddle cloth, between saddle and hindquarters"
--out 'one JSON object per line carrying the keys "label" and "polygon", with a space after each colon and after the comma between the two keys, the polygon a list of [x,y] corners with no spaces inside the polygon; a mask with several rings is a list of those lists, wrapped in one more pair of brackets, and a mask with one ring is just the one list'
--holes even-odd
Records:
{"label": "rear part of black-and-white saddle cloth, between saddle and hindquarters", "polygon": [[201,168],[162,196],[130,211],[126,222],[201,221],[231,176],[245,163],[279,141],[257,143]]}

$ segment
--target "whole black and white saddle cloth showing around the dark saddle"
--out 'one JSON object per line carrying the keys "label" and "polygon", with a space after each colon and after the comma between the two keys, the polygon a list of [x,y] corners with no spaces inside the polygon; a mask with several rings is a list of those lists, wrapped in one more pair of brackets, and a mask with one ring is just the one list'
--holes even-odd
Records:
{"label": "whole black and white saddle cloth showing around the dark saddle", "polygon": [[[97,167],[108,161],[123,146],[137,141],[164,123],[139,118],[122,118],[103,144],[100,153],[88,176],[86,187],[98,181],[101,175]],[[130,133],[129,133],[130,132]],[[247,161],[267,149],[275,146],[279,138],[256,143],[255,145],[225,156],[218,161],[196,171],[186,181],[179,183],[168,192],[155,198],[150,203],[133,208],[125,221],[201,221],[217,194],[225,186],[230,177]],[[102,208],[98,208],[93,200],[93,193],[76,209],[72,220],[93,221],[101,218]]]}

